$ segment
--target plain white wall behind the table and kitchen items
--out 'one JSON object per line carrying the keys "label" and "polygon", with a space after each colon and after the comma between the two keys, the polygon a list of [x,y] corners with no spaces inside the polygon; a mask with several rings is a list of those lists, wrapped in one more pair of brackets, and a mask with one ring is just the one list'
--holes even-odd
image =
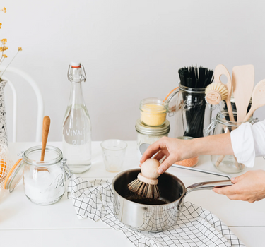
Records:
{"label": "plain white wall behind the table and kitchen items", "polygon": [[[1,6],[7,9],[0,14],[0,38],[9,47],[5,64],[23,47],[11,66],[37,81],[52,121],[50,141],[61,140],[71,61],[86,68],[93,140],[135,140],[139,102],[165,98],[184,66],[224,64],[232,74],[233,66],[254,64],[255,83],[265,78],[264,0],[2,0]],[[33,92],[12,80],[20,97],[18,141],[34,140]],[[8,92],[6,104],[11,139]],[[265,108],[256,116],[264,119]]]}

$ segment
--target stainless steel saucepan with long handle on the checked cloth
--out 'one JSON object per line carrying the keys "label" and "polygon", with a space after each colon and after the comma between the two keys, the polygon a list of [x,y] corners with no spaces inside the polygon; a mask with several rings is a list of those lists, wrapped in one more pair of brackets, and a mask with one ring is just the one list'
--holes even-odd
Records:
{"label": "stainless steel saucepan with long handle on the checked cloth", "polygon": [[128,183],[137,178],[140,169],[123,171],[117,174],[112,180],[112,188],[114,190],[114,215],[117,219],[126,224],[127,227],[137,231],[164,231],[177,222],[183,207],[184,198],[189,192],[232,185],[230,176],[225,174],[177,165],[173,166],[217,176],[225,176],[227,179],[194,183],[186,188],[177,176],[165,172],[160,175],[158,182],[160,199],[148,200],[137,198],[127,188]]}

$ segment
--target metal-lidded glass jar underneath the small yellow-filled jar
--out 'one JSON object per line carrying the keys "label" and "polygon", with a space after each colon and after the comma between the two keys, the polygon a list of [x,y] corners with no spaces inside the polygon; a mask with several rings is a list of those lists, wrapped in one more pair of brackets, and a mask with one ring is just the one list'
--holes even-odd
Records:
{"label": "metal-lidded glass jar underneath the small yellow-filled jar", "polygon": [[137,132],[137,154],[141,158],[140,145],[151,145],[160,138],[163,138],[163,136],[168,136],[170,132],[170,121],[166,120],[162,126],[151,127],[144,125],[141,119],[138,119],[135,128]]}

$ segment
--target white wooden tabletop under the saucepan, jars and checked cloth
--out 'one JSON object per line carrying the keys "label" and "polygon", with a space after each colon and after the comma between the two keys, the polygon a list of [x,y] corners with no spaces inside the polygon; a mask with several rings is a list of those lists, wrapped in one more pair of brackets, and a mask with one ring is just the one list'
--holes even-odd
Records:
{"label": "white wooden tabletop under the saucepan, jars and checked cloth", "polygon": [[[123,169],[139,167],[136,142],[127,141]],[[9,143],[11,159],[40,143]],[[61,148],[61,143],[48,143]],[[112,179],[116,174],[105,170],[100,142],[92,144],[92,167],[80,176],[88,179]],[[209,156],[199,158],[196,168],[216,171]],[[265,169],[265,160],[256,159],[254,169]],[[248,169],[247,169],[248,170]],[[246,171],[247,171],[246,170]],[[199,181],[218,180],[220,177],[171,167],[170,173],[186,186]],[[25,197],[20,181],[12,193],[0,191],[0,246],[134,246],[121,231],[111,229],[103,222],[78,219],[66,193],[54,205],[35,205]],[[248,247],[265,246],[265,200],[255,203],[229,200],[213,191],[194,191],[185,201],[210,210],[218,216]]]}

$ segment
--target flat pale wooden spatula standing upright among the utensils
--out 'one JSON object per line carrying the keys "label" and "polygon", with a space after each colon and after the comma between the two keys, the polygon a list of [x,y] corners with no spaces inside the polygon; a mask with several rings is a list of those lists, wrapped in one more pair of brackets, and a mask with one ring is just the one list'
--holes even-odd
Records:
{"label": "flat pale wooden spatula standing upright among the utensils", "polygon": [[232,90],[237,107],[237,123],[245,119],[253,87],[254,66],[252,64],[232,68]]}

